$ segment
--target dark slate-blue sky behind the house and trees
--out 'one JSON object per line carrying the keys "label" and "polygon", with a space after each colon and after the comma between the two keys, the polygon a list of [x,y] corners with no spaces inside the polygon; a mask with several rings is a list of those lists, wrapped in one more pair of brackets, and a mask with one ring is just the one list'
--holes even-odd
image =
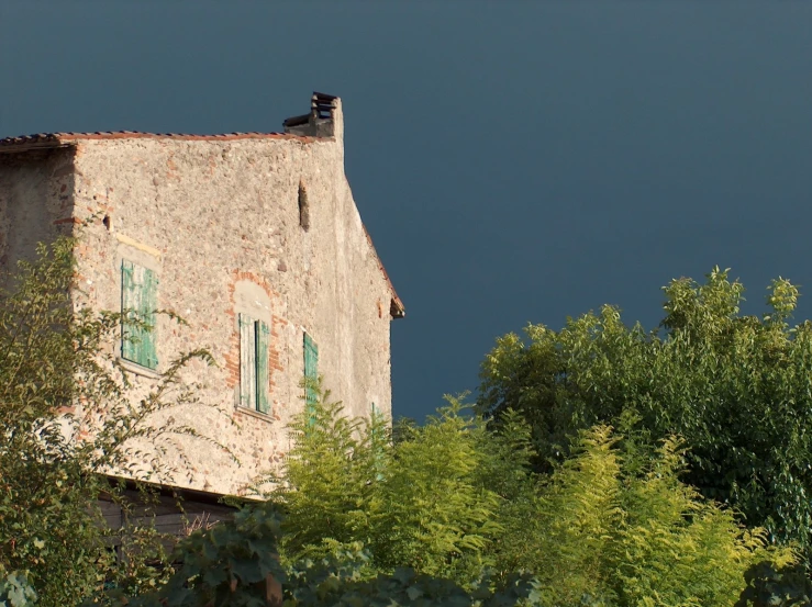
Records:
{"label": "dark slate-blue sky behind the house and trees", "polygon": [[407,306],[394,414],[498,335],[732,267],[812,289],[812,3],[0,0],[0,137],[278,131],[338,94]]}

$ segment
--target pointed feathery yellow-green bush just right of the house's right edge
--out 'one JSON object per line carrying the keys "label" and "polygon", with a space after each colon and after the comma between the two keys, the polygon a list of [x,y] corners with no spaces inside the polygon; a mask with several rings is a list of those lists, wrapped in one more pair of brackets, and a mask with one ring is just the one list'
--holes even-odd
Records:
{"label": "pointed feathery yellow-green bush just right of the house's right edge", "polygon": [[448,406],[392,450],[379,485],[382,526],[370,549],[386,570],[409,563],[421,573],[470,580],[500,532],[500,498],[479,475],[481,425],[447,398]]}

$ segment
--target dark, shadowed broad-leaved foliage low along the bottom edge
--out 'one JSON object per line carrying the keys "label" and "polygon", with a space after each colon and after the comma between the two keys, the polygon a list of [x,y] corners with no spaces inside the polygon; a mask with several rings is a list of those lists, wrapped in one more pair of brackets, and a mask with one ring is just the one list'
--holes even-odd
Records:
{"label": "dark, shadowed broad-leaved foliage low along the bottom edge", "polygon": [[408,567],[370,575],[369,555],[358,544],[286,572],[275,558],[279,532],[280,519],[269,503],[245,507],[234,520],[181,542],[175,557],[183,564],[167,584],[137,597],[111,593],[108,600],[129,607],[509,607],[535,593],[526,575],[498,588],[478,580],[470,591]]}

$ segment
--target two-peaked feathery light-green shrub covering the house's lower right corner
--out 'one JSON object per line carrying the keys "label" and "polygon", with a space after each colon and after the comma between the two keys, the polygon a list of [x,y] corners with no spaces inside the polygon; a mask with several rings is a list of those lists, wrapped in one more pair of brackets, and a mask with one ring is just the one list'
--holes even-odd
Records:
{"label": "two-peaked feathery light-green shrub covering the house's lower right corner", "polygon": [[501,499],[482,484],[483,427],[461,408],[449,398],[392,445],[381,417],[348,420],[316,398],[291,426],[297,442],[271,495],[286,513],[286,562],[361,542],[376,572],[409,563],[469,581],[499,532]]}

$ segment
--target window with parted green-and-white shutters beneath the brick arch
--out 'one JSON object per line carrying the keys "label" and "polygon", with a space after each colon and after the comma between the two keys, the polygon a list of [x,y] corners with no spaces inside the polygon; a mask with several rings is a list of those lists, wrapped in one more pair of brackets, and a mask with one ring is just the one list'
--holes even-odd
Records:
{"label": "window with parted green-and-white shutters beneath the brick arch", "polygon": [[268,345],[270,330],[262,321],[240,314],[240,404],[268,413]]}

